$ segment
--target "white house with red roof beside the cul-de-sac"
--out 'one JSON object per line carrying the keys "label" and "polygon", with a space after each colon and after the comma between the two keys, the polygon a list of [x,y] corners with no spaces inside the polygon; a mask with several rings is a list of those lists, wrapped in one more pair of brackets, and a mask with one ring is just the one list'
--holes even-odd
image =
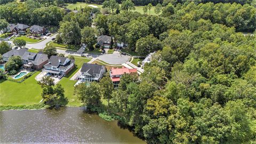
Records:
{"label": "white house with red roof beside the cul-de-sac", "polygon": [[131,73],[137,73],[137,69],[136,68],[129,69],[126,67],[110,69],[110,78],[114,84],[114,87],[118,87],[120,83],[120,78],[122,77],[123,74],[131,74]]}

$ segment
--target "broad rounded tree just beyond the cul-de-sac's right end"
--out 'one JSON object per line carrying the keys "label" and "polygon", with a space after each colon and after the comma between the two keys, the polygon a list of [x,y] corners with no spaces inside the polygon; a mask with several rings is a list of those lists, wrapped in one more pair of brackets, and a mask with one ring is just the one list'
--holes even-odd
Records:
{"label": "broad rounded tree just beyond the cul-de-sac's right end", "polygon": [[151,52],[162,50],[161,41],[152,34],[138,39],[136,42],[136,52],[140,55],[147,55]]}

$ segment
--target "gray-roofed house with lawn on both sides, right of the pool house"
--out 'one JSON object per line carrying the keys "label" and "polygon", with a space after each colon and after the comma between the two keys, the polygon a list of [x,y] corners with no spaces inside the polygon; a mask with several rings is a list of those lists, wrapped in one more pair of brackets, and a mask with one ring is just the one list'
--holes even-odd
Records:
{"label": "gray-roofed house with lawn on both sides, right of the pool house", "polygon": [[73,68],[75,68],[75,60],[52,55],[49,62],[44,65],[43,71],[48,75],[61,76],[67,75]]}

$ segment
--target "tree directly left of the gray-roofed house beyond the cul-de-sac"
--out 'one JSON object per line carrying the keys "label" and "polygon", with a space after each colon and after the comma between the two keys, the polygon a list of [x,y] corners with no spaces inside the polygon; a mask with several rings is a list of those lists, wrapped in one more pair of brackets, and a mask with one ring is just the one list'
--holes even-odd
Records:
{"label": "tree directly left of the gray-roofed house beyond the cul-de-sac", "polygon": [[97,43],[97,38],[95,36],[96,30],[92,27],[84,27],[81,31],[82,35],[82,43],[85,43],[87,45],[87,48],[89,50],[94,49],[94,44]]}

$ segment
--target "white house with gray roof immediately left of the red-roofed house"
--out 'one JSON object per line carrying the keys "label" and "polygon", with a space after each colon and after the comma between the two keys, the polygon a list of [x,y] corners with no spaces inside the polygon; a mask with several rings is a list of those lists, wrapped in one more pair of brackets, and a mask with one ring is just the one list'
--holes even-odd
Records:
{"label": "white house with gray roof immediately left of the red-roofed house", "polygon": [[99,82],[106,73],[106,67],[98,64],[84,63],[80,75],[77,76],[81,82]]}

